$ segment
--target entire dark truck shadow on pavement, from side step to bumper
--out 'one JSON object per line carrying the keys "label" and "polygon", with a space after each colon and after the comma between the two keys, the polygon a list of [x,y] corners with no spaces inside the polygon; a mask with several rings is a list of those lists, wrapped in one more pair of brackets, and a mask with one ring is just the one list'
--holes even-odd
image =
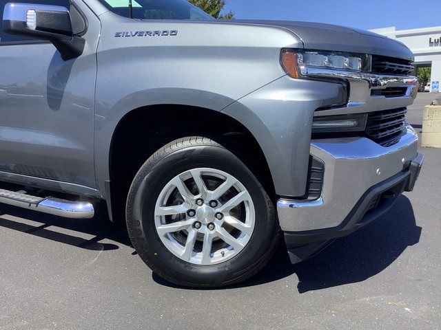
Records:
{"label": "entire dark truck shadow on pavement, from side step to bumper", "polygon": [[[116,250],[118,244],[131,246],[123,224],[110,223],[105,211],[97,214],[105,215],[73,220],[0,205],[0,226],[87,250]],[[313,258],[291,265],[281,244],[274,258],[256,276],[224,289],[263,285],[294,273],[300,293],[365,281],[385,270],[407,247],[418,243],[421,230],[416,225],[411,202],[401,196],[382,217],[337,239]],[[175,287],[155,274],[152,278],[160,285]]]}

